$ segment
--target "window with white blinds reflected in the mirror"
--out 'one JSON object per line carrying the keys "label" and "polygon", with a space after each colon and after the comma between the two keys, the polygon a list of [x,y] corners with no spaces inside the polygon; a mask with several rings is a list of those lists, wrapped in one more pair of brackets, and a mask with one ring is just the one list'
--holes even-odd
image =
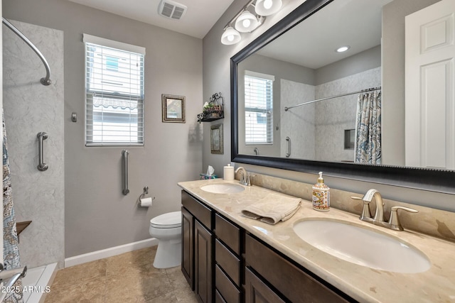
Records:
{"label": "window with white blinds reflected in the mirror", "polygon": [[245,71],[245,144],[273,144],[273,81]]}

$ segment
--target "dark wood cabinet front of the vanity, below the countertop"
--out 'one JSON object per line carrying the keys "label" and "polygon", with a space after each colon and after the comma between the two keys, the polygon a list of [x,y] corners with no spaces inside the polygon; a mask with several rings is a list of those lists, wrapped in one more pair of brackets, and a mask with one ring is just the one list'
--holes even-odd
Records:
{"label": "dark wood cabinet front of the vanity, below the countertop", "polygon": [[184,191],[182,250],[200,302],[355,302]]}

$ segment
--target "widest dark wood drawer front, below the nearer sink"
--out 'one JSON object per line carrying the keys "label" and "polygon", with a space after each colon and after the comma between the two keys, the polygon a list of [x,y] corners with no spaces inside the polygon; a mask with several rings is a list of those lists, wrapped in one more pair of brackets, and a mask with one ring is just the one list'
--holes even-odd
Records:
{"label": "widest dark wood drawer front, below the nearer sink", "polygon": [[245,263],[291,302],[349,302],[344,298],[346,294],[336,293],[248,234],[245,236]]}

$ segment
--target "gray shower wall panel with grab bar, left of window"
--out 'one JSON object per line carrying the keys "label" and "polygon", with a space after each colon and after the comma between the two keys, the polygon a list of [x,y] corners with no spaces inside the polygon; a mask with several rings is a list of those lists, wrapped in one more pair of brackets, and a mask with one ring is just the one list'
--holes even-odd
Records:
{"label": "gray shower wall panel with grab bar, left of window", "polygon": [[[52,84],[43,86],[45,67],[9,28],[3,30],[4,115],[9,143],[16,221],[32,224],[19,236],[21,263],[33,268],[64,256],[63,31],[11,21],[43,53]],[[48,133],[40,172],[37,133]]]}

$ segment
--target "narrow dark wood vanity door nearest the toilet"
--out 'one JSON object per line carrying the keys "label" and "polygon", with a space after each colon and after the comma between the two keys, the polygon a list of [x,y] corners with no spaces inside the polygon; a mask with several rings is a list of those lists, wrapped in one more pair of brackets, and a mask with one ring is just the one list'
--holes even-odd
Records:
{"label": "narrow dark wood vanity door nearest the toilet", "polygon": [[193,230],[194,218],[184,207],[182,207],[182,272],[186,277],[191,290],[194,290]]}

